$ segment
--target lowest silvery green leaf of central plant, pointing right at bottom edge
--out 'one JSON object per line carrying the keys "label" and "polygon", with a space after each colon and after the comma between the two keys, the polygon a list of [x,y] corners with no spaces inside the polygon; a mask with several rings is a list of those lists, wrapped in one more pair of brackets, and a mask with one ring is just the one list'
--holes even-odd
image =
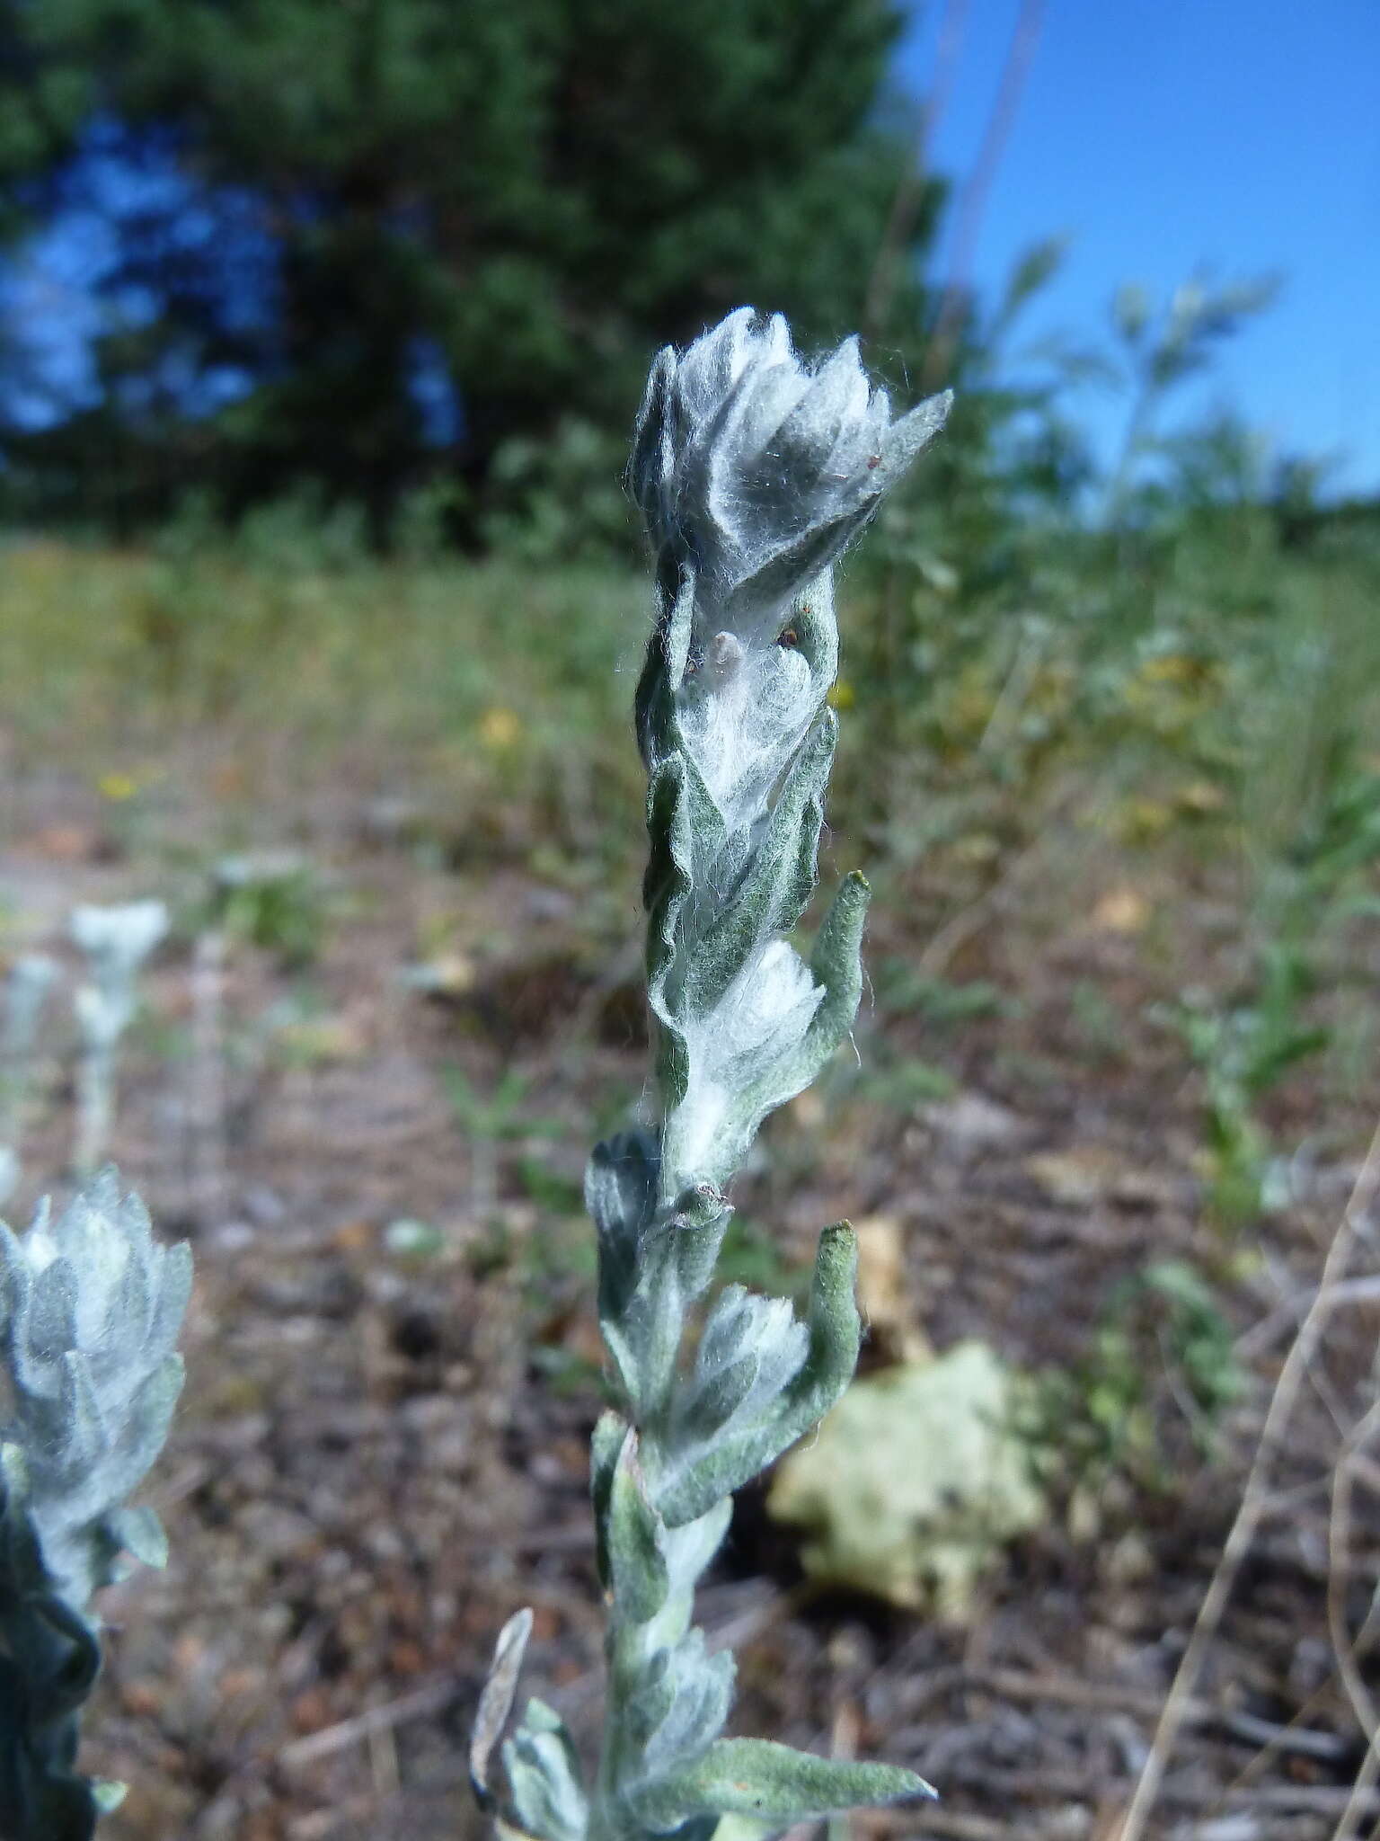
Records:
{"label": "lowest silvery green leaf of central plant, pointing right at bottom edge", "polygon": [[696,1764],[638,1795],[638,1815],[668,1834],[696,1815],[756,1815],[802,1823],[845,1810],[933,1797],[914,1771],[892,1764],[852,1764],[762,1738],[725,1738]]}

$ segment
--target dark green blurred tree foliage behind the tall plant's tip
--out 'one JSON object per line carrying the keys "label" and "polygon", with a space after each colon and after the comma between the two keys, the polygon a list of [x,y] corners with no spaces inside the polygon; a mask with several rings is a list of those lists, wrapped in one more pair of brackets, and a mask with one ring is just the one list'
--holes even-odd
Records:
{"label": "dark green blurred tree foliage behind the tall plant's tip", "polygon": [[[213,427],[107,405],[15,447],[81,499],[116,442],[134,515],[195,481],[237,508],[315,479],[383,534],[438,464],[407,388],[425,337],[464,405],[453,515],[488,528],[506,457],[510,519],[513,438],[622,429],[653,342],[742,300],[806,348],[857,322],[909,158],[878,116],[898,29],[891,0],[4,0],[0,180],[50,177],[112,112],[250,188],[282,254],[270,328],[180,260],[144,276],[162,318],[107,341],[112,377],[245,365],[259,385]],[[931,221],[927,190],[907,247]],[[889,339],[913,359],[916,335],[907,280]]]}

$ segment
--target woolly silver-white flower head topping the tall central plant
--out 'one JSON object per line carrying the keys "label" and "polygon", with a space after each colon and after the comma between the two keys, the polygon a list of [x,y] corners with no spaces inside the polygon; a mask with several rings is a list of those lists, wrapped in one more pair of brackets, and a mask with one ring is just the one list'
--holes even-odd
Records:
{"label": "woolly silver-white flower head topping the tall central plant", "polygon": [[[683,742],[730,828],[760,819],[837,670],[832,563],[944,427],[892,422],[846,339],[804,365],[786,320],[730,313],[651,366],[629,469],[655,552]],[[799,617],[791,617],[795,615]],[[640,712],[644,755],[659,751]],[[651,758],[648,758],[651,766]]]}

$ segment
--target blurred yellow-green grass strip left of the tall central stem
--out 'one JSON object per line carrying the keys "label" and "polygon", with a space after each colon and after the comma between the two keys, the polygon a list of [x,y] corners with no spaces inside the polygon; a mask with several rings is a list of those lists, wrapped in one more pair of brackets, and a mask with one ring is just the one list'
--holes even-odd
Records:
{"label": "blurred yellow-green grass strip left of the tall central stem", "polygon": [[583,843],[589,814],[640,810],[627,709],[650,595],[629,571],[46,539],[0,567],[20,770],[61,764],[120,805],[215,753],[252,806],[272,757],[302,788],[440,793],[478,832],[517,814]]}

